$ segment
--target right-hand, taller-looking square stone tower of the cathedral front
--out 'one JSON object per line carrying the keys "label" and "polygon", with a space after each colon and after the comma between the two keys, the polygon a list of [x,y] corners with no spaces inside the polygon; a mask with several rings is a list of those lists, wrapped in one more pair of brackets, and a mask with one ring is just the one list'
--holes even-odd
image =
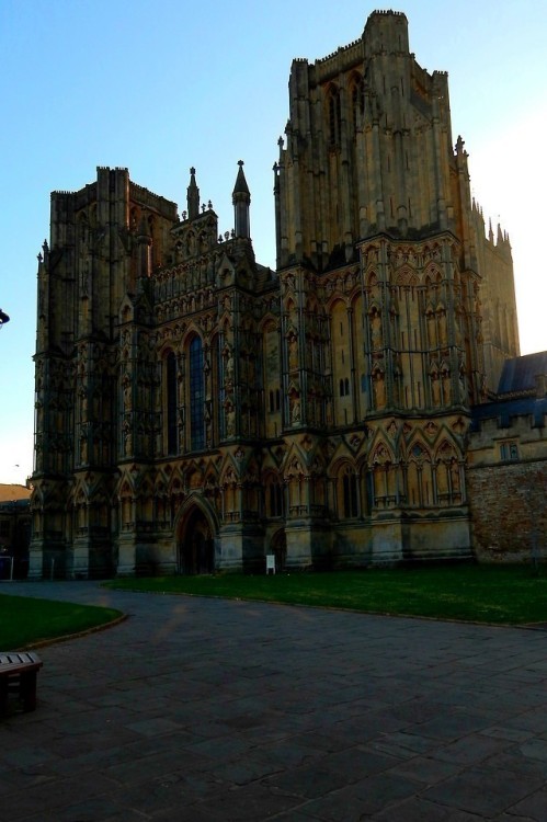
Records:
{"label": "right-hand, taller-looking square stone tower of the cathedral front", "polygon": [[404,14],[293,62],[274,174],[293,447],[300,431],[329,454],[330,550],[464,556],[469,409],[499,376],[482,329],[495,278],[512,294],[500,356],[518,350],[511,252],[485,236],[447,75],[419,66]]}

